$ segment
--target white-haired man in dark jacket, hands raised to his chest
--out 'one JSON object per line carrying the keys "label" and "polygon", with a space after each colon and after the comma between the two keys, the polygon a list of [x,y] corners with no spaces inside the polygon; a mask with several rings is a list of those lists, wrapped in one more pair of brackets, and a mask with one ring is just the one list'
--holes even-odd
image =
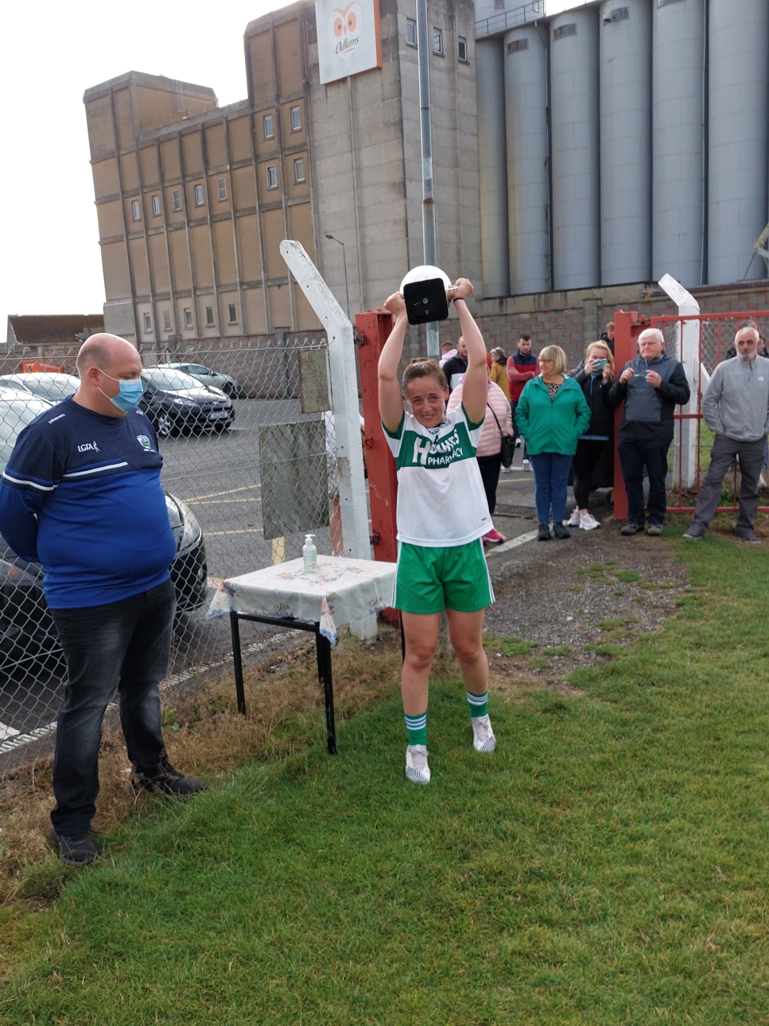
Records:
{"label": "white-haired man in dark jacket, hands raised to his chest", "polygon": [[644,469],[649,477],[647,534],[662,534],[667,508],[667,450],[676,406],[689,401],[689,383],[678,360],[664,353],[664,336],[648,327],[638,337],[639,355],[622,367],[609,392],[616,407],[624,400],[617,450],[628,494],[628,523],[622,535],[644,529]]}

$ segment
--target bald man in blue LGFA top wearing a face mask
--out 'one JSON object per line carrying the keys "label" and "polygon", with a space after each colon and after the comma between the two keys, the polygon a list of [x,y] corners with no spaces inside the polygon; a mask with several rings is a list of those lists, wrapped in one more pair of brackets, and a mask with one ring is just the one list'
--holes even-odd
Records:
{"label": "bald man in blue LGFA top wearing a face mask", "polygon": [[78,353],[80,388],[19,434],[0,481],[0,531],[42,563],[67,660],[53,759],[52,838],[63,862],[92,862],[102,722],[117,688],[134,790],[203,785],[168,762],[158,684],[170,652],[175,542],[155,430],[138,409],[141,359],[114,334]]}

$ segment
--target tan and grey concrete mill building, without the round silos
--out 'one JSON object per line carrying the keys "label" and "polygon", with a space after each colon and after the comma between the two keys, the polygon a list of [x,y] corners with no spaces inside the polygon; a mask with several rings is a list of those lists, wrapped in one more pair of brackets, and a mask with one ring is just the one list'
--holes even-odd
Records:
{"label": "tan and grey concrete mill building, without the round silos", "polygon": [[[225,108],[137,72],[86,91],[108,330],[162,352],[316,327],[278,247],[301,242],[343,305],[326,234],[354,308],[381,304],[422,262],[414,16],[379,0],[381,66],[326,84],[311,0],[251,22],[248,98]],[[438,259],[479,280],[474,16],[431,4]]]}

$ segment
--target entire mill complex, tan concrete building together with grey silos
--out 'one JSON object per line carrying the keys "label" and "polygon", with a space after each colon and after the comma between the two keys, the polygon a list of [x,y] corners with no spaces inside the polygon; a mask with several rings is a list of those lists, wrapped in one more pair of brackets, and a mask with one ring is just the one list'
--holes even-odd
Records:
{"label": "entire mill complex, tan concrete building together with grey silos", "polygon": [[[316,327],[286,237],[342,306],[326,236],[346,244],[354,311],[422,262],[416,5],[371,2],[362,73],[324,78],[302,0],[246,28],[241,103],[135,72],[86,92],[108,329],[162,351]],[[438,262],[480,316],[581,311],[585,289],[603,309],[665,272],[766,279],[766,0],[431,0],[429,18]]]}

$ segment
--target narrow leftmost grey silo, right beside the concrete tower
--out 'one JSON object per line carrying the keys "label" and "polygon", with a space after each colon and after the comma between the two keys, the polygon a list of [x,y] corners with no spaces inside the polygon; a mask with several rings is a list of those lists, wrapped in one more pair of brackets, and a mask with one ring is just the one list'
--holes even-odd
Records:
{"label": "narrow leftmost grey silo, right beside the concrete tower", "polygon": [[508,167],[502,40],[476,42],[483,294],[508,295]]}

